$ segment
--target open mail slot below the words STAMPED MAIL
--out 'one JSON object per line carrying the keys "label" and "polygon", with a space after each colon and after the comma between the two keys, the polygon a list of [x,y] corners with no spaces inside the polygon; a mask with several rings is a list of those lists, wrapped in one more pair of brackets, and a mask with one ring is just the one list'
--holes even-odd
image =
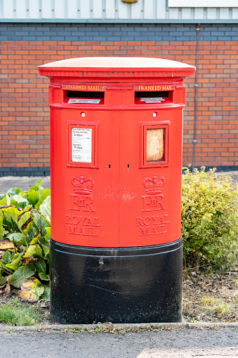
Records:
{"label": "open mail slot below the words STAMPED MAIL", "polygon": [[66,91],[65,103],[68,104],[103,104],[104,92]]}

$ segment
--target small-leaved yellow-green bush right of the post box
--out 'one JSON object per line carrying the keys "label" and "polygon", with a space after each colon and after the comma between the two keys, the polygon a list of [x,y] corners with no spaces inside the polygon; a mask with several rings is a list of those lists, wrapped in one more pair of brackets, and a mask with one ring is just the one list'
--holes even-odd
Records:
{"label": "small-leaved yellow-green bush right of the post box", "polygon": [[185,265],[237,262],[238,184],[205,167],[185,170],[182,183]]}

